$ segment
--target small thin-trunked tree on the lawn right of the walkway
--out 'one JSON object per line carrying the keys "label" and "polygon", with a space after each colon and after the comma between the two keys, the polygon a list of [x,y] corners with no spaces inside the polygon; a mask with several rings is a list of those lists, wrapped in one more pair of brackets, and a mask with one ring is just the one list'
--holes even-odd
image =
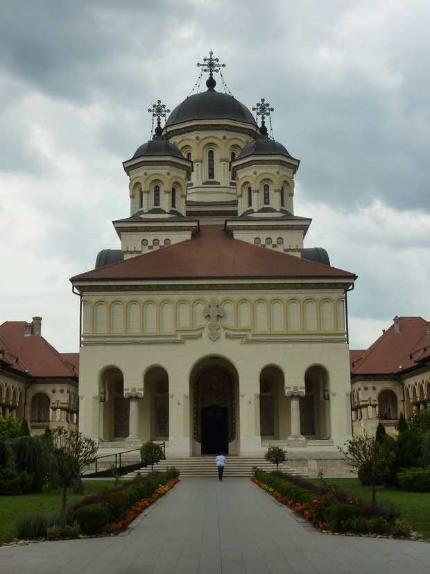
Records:
{"label": "small thin-trunked tree on the lawn right of the walkway", "polygon": [[338,449],[345,457],[348,466],[367,475],[372,487],[372,504],[375,504],[375,484],[377,479],[389,473],[395,453],[391,452],[384,443],[378,442],[375,437],[369,437],[368,434],[361,434],[355,439],[346,441],[345,446],[346,450],[343,450],[341,446],[338,446]]}

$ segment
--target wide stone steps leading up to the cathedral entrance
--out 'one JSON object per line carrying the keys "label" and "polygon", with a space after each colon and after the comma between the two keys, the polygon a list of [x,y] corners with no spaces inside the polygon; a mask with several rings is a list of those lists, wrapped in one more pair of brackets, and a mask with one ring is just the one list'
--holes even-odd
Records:
{"label": "wide stone steps leading up to the cathedral entrance", "polygon": [[[252,476],[252,467],[257,466],[259,469],[266,472],[275,471],[276,464],[267,462],[264,458],[245,458],[238,456],[230,456],[227,458],[224,475],[225,478],[232,477],[246,477]],[[162,460],[158,464],[154,464],[154,471],[163,472],[168,466],[175,466],[180,470],[180,478],[195,478],[195,477],[210,477],[214,478],[217,475],[215,455],[207,455],[202,457],[177,457]],[[124,478],[130,480],[137,475],[138,472],[145,474],[150,470],[150,467],[144,466],[140,470],[128,473]],[[291,474],[293,476],[303,476],[300,471],[294,469],[292,466],[286,464],[279,464],[279,471]]]}

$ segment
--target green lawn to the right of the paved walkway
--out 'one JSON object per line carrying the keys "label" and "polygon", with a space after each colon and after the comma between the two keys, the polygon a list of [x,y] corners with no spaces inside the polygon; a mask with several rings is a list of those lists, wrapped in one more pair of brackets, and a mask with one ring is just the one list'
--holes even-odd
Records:
{"label": "green lawn to the right of the paved walkway", "polygon": [[[321,484],[318,478],[307,480],[312,484]],[[327,478],[325,482],[336,485],[353,499],[359,498],[365,503],[372,501],[372,488],[363,486],[358,478]],[[386,500],[395,505],[400,516],[413,530],[430,539],[430,492],[405,492],[376,487],[377,504],[384,504]]]}

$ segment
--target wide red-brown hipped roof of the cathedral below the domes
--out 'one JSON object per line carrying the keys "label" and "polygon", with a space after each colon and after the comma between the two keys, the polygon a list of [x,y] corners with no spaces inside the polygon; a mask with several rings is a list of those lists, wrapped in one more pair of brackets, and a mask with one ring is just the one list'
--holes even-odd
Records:
{"label": "wide red-brown hipped roof of the cathedral below the domes", "polygon": [[223,226],[201,226],[191,239],[81,273],[71,280],[239,277],[356,278],[349,271],[233,239]]}

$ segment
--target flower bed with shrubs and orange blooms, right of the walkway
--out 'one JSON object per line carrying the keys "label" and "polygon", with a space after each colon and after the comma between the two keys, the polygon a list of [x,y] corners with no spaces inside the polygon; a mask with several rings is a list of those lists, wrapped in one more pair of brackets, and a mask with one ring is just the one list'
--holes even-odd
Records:
{"label": "flower bed with shrubs and orange blooms, right of the walkway", "polygon": [[384,507],[350,500],[341,491],[315,487],[302,479],[255,471],[251,478],[280,503],[288,505],[320,530],[350,534],[411,536],[411,526]]}

